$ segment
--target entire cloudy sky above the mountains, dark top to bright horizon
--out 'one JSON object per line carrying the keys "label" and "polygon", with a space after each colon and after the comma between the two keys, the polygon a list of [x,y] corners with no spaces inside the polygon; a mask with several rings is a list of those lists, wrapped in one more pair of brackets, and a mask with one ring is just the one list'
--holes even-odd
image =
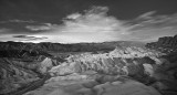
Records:
{"label": "entire cloudy sky above the mountains, dark top to bright horizon", "polygon": [[0,41],[153,42],[177,34],[176,0],[0,0]]}

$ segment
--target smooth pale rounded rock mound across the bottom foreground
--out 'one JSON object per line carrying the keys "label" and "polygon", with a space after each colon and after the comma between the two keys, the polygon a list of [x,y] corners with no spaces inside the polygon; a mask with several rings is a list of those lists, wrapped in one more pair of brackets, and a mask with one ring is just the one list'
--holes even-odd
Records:
{"label": "smooth pale rounded rock mound across the bottom foreground", "polygon": [[77,74],[53,77],[41,88],[24,95],[160,95],[155,88],[133,80],[107,75],[102,77],[107,80],[98,83],[96,76]]}

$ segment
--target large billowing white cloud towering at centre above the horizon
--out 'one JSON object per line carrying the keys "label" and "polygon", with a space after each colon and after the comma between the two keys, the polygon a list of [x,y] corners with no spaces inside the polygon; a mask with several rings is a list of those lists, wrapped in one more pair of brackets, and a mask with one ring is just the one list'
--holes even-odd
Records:
{"label": "large billowing white cloud towering at centre above the horizon", "polygon": [[69,43],[116,41],[128,34],[124,21],[107,15],[107,7],[92,7],[84,13],[69,14],[63,19],[63,24],[50,25],[50,32],[42,34],[58,36],[55,41]]}

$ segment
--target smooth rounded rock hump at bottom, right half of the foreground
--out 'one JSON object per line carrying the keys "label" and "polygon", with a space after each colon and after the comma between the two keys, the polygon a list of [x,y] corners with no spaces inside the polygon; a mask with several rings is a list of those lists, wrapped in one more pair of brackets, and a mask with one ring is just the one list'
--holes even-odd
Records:
{"label": "smooth rounded rock hump at bottom, right half of the foreground", "polygon": [[94,87],[97,95],[160,95],[153,87],[145,86],[142,83],[134,81],[126,81],[117,85],[105,83]]}

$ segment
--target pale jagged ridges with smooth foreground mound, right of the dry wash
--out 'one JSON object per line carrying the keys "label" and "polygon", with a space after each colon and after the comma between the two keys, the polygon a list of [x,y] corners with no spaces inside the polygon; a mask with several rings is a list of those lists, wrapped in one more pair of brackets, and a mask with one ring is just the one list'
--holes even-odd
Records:
{"label": "pale jagged ridges with smooth foreground mound, right of the dry wash", "polygon": [[42,87],[24,95],[175,95],[176,63],[164,56],[134,46],[71,55],[49,70],[52,77]]}

